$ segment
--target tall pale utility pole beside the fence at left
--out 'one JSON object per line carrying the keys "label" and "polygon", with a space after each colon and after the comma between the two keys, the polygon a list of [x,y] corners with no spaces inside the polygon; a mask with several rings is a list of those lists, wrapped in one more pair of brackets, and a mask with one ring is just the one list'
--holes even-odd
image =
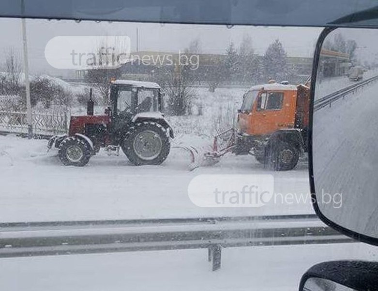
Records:
{"label": "tall pale utility pole beside the fence at left", "polygon": [[[22,14],[25,12],[25,0],[21,0]],[[26,39],[26,21],[25,18],[21,19],[22,26],[22,45],[24,51],[24,75],[25,75],[25,88],[26,88],[26,121],[28,123],[28,138],[33,137],[33,125],[31,116],[31,102],[30,102],[30,81],[29,81],[29,61],[28,61],[28,43]]]}

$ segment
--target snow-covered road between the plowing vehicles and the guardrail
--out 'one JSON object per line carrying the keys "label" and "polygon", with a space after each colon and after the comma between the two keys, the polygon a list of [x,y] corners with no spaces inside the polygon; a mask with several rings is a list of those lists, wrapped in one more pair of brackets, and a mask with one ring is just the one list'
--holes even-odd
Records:
{"label": "snow-covered road between the plowing vehicles and the guardrail", "polygon": [[282,199],[253,209],[199,208],[187,194],[200,174],[272,174],[276,193],[308,194],[303,162],[293,171],[272,172],[253,157],[230,155],[189,172],[189,154],[172,149],[160,166],[136,167],[123,153],[108,157],[100,151],[78,168],[61,165],[57,150],[46,153],[45,146],[45,140],[0,136],[1,222],[313,213],[309,201]]}

